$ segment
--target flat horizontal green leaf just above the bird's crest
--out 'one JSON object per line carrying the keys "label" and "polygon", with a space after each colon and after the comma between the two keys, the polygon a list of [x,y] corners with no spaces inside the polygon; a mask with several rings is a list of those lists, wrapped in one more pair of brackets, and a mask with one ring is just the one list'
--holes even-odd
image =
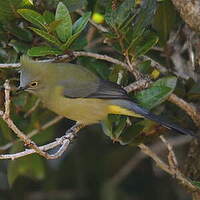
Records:
{"label": "flat horizontal green leaf just above the bird's crest", "polygon": [[47,55],[59,55],[62,54],[62,51],[48,47],[48,46],[40,46],[40,47],[32,47],[27,52],[28,56],[47,56]]}

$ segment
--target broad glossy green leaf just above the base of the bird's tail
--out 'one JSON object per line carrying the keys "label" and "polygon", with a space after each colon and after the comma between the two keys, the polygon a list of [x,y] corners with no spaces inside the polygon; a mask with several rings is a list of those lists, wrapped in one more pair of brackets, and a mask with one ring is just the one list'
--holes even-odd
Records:
{"label": "broad glossy green leaf just above the base of the bird's tail", "polygon": [[150,110],[169,97],[176,87],[176,82],[177,78],[174,76],[161,78],[153,83],[150,88],[138,92],[135,99],[140,106]]}

